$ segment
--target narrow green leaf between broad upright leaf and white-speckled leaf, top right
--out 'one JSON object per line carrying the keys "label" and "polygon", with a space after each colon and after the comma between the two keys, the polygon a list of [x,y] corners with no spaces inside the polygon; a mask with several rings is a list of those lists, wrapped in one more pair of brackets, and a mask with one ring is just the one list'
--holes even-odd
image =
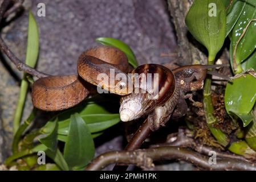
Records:
{"label": "narrow green leaf between broad upright leaf and white-speckled leaf, top right", "polygon": [[230,13],[227,15],[226,36],[229,35],[231,30],[234,28],[235,23],[237,23],[237,20],[245,8],[245,5],[246,3],[242,1],[237,1],[234,3]]}

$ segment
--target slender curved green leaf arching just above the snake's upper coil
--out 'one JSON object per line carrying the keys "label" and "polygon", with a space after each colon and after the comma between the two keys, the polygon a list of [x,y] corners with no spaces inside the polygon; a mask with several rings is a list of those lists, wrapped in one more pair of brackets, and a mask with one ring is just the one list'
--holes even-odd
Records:
{"label": "slender curved green leaf arching just above the snake's upper coil", "polygon": [[99,42],[105,46],[113,46],[119,48],[127,56],[129,64],[131,64],[134,68],[138,66],[135,54],[133,53],[132,49],[124,42],[113,38],[97,38],[96,42]]}

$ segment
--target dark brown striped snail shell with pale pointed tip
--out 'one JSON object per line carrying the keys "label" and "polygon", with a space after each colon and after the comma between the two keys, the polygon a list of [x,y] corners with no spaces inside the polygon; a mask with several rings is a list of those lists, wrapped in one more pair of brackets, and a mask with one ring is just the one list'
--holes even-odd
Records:
{"label": "dark brown striped snail shell with pale pointed tip", "polygon": [[133,93],[120,100],[120,119],[124,122],[164,105],[176,90],[173,72],[159,64],[140,65],[129,76],[133,81]]}

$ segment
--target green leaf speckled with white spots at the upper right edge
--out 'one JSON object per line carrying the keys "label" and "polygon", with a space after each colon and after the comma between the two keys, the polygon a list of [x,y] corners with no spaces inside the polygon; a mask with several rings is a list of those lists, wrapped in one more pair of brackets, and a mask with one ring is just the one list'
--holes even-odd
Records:
{"label": "green leaf speckled with white spots at the upper right edge", "polygon": [[[235,24],[233,31],[232,31],[232,48],[234,51],[235,44],[237,44],[240,36],[243,33],[243,30],[246,28],[247,24],[250,22],[251,19],[256,18],[256,8],[246,3],[243,12],[237,23]],[[247,31],[241,41],[238,44],[237,51],[235,52],[235,61],[237,64],[242,63],[247,57],[253,53],[254,49],[256,48],[256,22],[251,22],[250,26],[247,28]],[[233,54],[233,52],[232,52]]]}

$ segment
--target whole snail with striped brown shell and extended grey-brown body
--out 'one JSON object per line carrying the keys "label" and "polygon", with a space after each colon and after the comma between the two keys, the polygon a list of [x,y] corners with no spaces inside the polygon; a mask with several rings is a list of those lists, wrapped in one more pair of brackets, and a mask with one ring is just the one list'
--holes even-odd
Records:
{"label": "whole snail with striped brown shell and extended grey-brown body", "polygon": [[[225,65],[186,65],[173,71],[159,64],[144,64],[132,71],[133,82],[140,74],[157,74],[155,81],[139,77],[139,93],[132,93],[120,100],[120,118],[127,122],[148,114],[148,123],[151,130],[155,131],[172,118],[182,117],[186,114],[188,106],[185,98],[190,97],[187,92],[202,89],[206,74],[210,68]],[[209,72],[214,75],[213,72]],[[136,76],[137,75],[137,76]],[[149,89],[152,84],[158,88]],[[146,85],[146,86],[145,86]],[[149,85],[149,86],[148,86]],[[157,87],[156,86],[156,87]],[[147,92],[142,93],[147,90]],[[152,90],[158,89],[156,96]]]}

